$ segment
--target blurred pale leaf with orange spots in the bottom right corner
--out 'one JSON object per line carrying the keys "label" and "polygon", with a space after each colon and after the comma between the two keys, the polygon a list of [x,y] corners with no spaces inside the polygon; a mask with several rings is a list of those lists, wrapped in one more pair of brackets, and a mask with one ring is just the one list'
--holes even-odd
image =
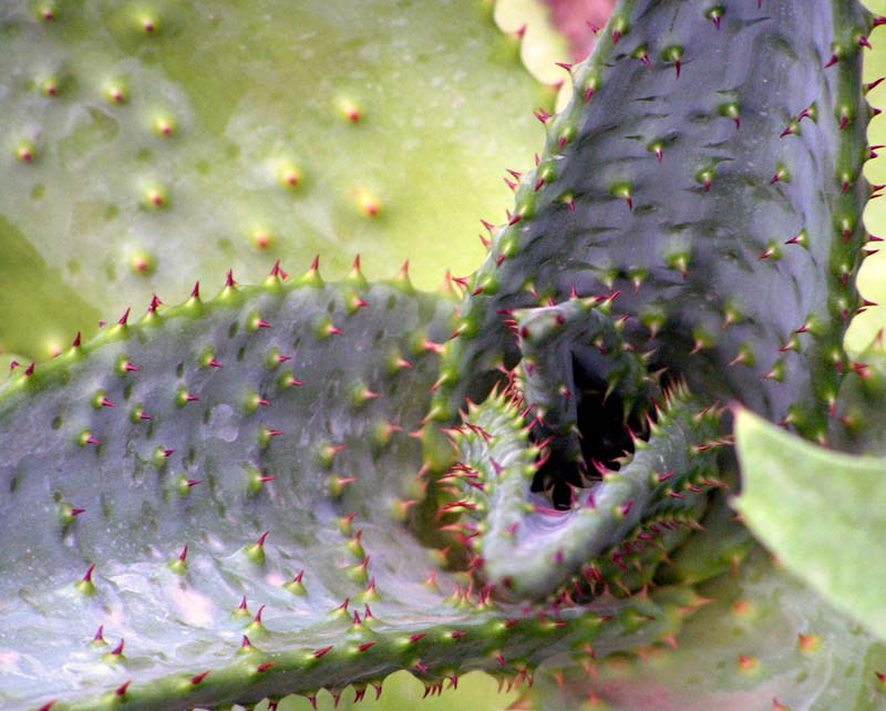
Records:
{"label": "blurred pale leaf with orange spots in the bottom right corner", "polygon": [[[539,711],[880,711],[886,645],[758,552],[671,645],[536,674]],[[563,681],[562,688],[558,682]]]}

